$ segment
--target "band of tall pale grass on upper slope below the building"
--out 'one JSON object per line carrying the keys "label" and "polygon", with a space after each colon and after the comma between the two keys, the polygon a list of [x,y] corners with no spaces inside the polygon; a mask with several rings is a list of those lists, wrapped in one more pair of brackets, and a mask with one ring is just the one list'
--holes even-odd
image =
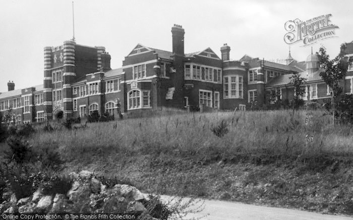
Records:
{"label": "band of tall pale grass on upper slope below the building", "polygon": [[[189,113],[89,124],[82,130],[36,132],[33,146],[57,147],[64,158],[89,164],[94,158],[169,155],[201,163],[223,160],[274,163],[310,157],[352,157],[353,128],[330,124],[329,116],[314,111],[312,126],[305,111]],[[227,122],[228,132],[212,129]],[[117,123],[117,128],[113,125]],[[306,135],[314,142],[307,145]]]}

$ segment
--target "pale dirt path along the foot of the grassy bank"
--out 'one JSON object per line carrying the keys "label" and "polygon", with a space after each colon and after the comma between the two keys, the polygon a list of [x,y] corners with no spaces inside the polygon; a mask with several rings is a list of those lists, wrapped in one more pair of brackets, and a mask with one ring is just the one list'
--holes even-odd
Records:
{"label": "pale dirt path along the foot of the grassy bank", "polygon": [[[162,200],[169,201],[172,197],[162,196]],[[209,215],[207,215],[209,214]],[[205,216],[207,215],[207,216]],[[275,208],[259,205],[243,204],[239,202],[227,202],[218,200],[205,200],[205,208],[197,214],[188,217],[201,217],[202,220],[225,220],[225,219],[269,219],[269,220],[338,220],[353,219],[340,215],[327,215],[310,211],[302,211],[287,208]]]}

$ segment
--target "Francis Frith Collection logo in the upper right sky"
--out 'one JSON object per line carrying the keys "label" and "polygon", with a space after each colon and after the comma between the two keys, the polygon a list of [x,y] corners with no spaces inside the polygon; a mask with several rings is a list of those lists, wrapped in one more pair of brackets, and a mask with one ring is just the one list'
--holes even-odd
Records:
{"label": "Francis Frith Collection logo in the upper right sky", "polygon": [[337,37],[335,29],[338,26],[331,23],[331,16],[327,14],[307,21],[300,19],[287,21],[284,28],[288,33],[284,35],[284,42],[287,44],[303,42],[303,46],[308,46],[327,38]]}

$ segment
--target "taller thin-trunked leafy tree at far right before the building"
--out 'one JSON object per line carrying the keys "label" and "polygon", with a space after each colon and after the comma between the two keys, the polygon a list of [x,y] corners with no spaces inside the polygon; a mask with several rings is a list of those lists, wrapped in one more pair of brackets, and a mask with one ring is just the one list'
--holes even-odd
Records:
{"label": "taller thin-trunked leafy tree at far right before the building", "polygon": [[[320,72],[321,78],[324,80],[326,85],[332,89],[331,93],[331,105],[332,105],[332,124],[334,125],[335,117],[338,117],[338,112],[335,112],[336,107],[341,106],[341,100],[344,97],[341,96],[343,92],[342,81],[344,84],[345,75],[347,73],[348,66],[352,64],[353,58],[346,57],[345,49],[346,44],[343,43],[340,46],[339,54],[332,60],[326,53],[325,47],[320,47],[319,57],[321,68],[324,71]],[[344,96],[344,95],[343,95]]]}

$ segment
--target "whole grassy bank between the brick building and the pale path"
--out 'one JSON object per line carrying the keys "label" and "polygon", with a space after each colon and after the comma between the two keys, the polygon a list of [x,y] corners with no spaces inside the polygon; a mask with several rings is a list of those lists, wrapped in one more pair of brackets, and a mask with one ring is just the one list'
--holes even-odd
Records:
{"label": "whole grassy bank between the brick building and the pale path", "polygon": [[320,111],[307,119],[305,111],[178,114],[41,131],[30,143],[60,152],[64,173],[88,168],[146,192],[353,214],[353,128],[333,128]]}

